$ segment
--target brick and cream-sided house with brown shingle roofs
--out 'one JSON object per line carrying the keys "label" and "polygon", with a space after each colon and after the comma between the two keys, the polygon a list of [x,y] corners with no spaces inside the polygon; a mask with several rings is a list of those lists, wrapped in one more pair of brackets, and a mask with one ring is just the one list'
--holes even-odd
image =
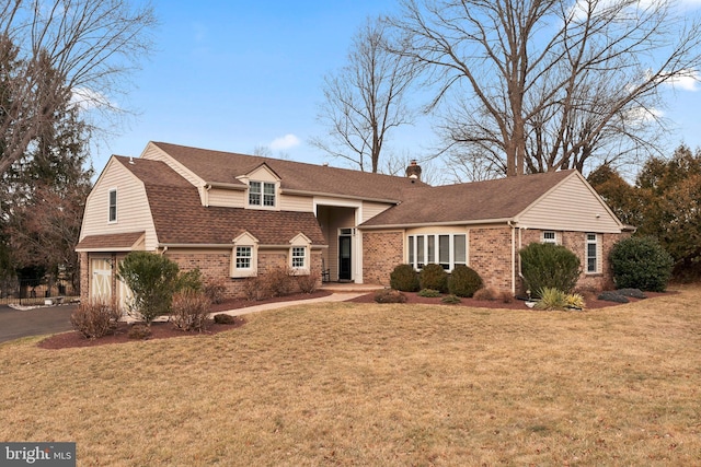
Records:
{"label": "brick and cream-sided house with brown shingle roofs", "polygon": [[625,227],[578,172],[437,187],[415,163],[406,174],[149,142],[140,157],[112,156],[88,197],[81,293],[124,304],[115,266],[133,250],[223,279],[229,296],[275,268],[388,284],[402,262],[468,265],[518,293],[518,250],[531,242],[577,254],[579,285],[611,282],[608,252]]}

